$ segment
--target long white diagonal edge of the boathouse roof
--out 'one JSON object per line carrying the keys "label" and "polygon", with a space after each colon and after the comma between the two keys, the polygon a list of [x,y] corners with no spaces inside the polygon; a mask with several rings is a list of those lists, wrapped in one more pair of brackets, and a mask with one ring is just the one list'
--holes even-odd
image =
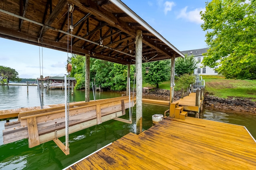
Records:
{"label": "long white diagonal edge of the boathouse roof", "polygon": [[113,4],[118,6],[122,11],[124,11],[128,16],[132,17],[135,21],[140,23],[144,28],[154,34],[157,38],[159,38],[162,42],[166,43],[170,48],[172,48],[176,53],[178,53],[181,57],[184,57],[184,54],[180,52],[176,47],[174,47],[169,41],[167,41],[160,33],[158,33],[154,28],[152,28],[146,21],[140,18],[135,12],[133,12],[124,2],[120,0],[110,0]]}

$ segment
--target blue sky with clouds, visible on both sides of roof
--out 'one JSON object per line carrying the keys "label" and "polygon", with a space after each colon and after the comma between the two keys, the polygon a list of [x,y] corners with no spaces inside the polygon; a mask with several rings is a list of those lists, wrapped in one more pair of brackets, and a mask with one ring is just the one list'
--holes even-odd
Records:
{"label": "blue sky with clouds, visible on both sides of roof", "polygon": [[[122,0],[180,51],[206,48],[200,11],[206,0]],[[19,78],[64,76],[70,53],[0,38],[0,65]],[[39,59],[40,58],[40,59]]]}

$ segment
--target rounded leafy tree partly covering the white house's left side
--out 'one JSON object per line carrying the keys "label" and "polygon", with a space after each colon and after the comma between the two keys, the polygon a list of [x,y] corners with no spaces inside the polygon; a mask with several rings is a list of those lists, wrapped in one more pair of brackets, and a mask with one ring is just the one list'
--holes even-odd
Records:
{"label": "rounded leafy tree partly covering the white house's left side", "polygon": [[191,74],[194,69],[197,68],[196,64],[198,62],[194,59],[194,55],[185,55],[184,58],[179,57],[175,61],[175,73],[180,76],[183,74]]}

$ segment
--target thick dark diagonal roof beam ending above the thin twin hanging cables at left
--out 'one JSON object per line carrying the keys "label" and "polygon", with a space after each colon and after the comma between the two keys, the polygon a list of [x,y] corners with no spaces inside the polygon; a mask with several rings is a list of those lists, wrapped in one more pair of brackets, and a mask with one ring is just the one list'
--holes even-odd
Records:
{"label": "thick dark diagonal roof beam ending above the thin twin hanging cables at left", "polygon": [[[45,21],[44,25],[52,25],[56,17],[60,14],[60,12],[63,10],[64,6],[67,4],[66,0],[60,0],[56,7],[54,8],[52,14],[50,14],[49,18]],[[42,27],[41,30],[38,33],[38,37],[43,37],[44,33],[46,32],[47,28]]]}

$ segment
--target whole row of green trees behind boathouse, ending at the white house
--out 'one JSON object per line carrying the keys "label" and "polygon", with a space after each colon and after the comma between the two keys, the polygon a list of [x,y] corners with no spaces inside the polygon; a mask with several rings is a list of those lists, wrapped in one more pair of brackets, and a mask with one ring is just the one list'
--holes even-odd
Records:
{"label": "whole row of green trees behind boathouse, ending at the white house", "polygon": [[[70,59],[72,71],[70,76],[76,78],[75,89],[82,89],[85,86],[85,57],[81,55],[72,55]],[[185,58],[176,59],[175,72],[178,76],[183,74],[193,74],[196,68],[194,56],[185,56]],[[146,67],[149,67],[148,73]],[[142,64],[142,80],[150,85],[156,85],[170,80],[170,60],[155,61]],[[96,86],[105,90],[122,91],[126,90],[127,65],[111,63],[99,59],[90,58],[90,82],[95,82]],[[135,65],[130,65],[130,83],[133,84]],[[190,78],[191,79],[191,78]],[[193,79],[192,79],[193,80]],[[190,82],[191,83],[191,82]],[[92,84],[90,84],[92,86]]]}

